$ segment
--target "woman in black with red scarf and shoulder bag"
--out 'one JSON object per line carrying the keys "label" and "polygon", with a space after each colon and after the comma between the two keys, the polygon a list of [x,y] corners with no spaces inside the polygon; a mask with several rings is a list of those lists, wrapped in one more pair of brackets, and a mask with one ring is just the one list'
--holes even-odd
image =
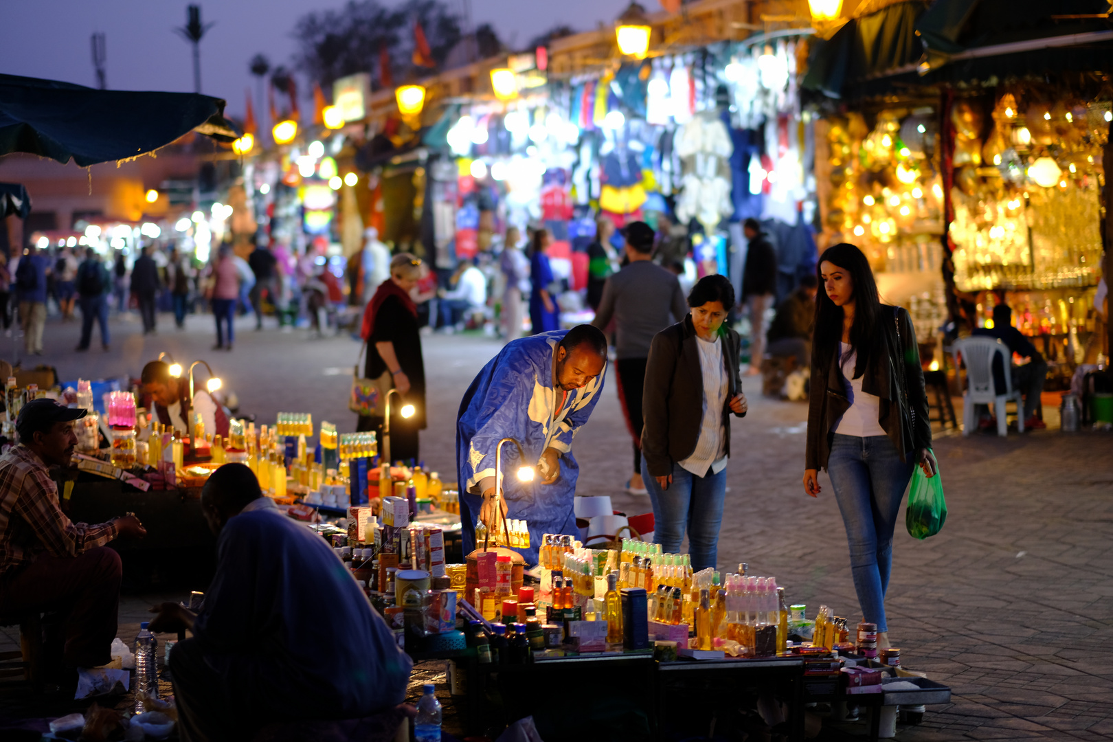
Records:
{"label": "woman in black with red scarf and shoulder bag", "polygon": [[[394,387],[407,404],[412,417],[402,417],[397,398],[391,400],[391,457],[394,461],[420,458],[417,432],[425,427],[425,363],[421,354],[417,306],[410,291],[422,275],[421,260],[408,253],[391,260],[391,277],[378,285],[363,313],[361,336],[367,342],[365,378],[378,378],[390,372]],[[393,395],[392,395],[393,396]],[[356,431],[375,431],[382,441],[383,418],[359,416]]]}

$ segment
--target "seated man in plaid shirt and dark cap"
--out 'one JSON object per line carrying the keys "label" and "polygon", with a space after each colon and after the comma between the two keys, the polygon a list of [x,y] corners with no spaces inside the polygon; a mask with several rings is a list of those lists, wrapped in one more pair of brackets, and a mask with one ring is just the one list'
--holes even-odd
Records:
{"label": "seated man in plaid shirt and dark cap", "polygon": [[88,525],[61,512],[47,467],[69,466],[77,445],[71,423],[80,417],[85,409],[35,399],[16,421],[19,445],[0,456],[0,614],[56,612],[71,669],[111,660],[121,568],[105,544],[147,534],[135,515]]}

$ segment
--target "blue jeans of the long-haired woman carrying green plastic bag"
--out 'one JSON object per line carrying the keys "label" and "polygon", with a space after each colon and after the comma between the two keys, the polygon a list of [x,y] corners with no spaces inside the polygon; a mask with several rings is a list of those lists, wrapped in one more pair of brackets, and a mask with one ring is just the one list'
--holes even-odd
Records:
{"label": "blue jeans of the long-haired woman carrying green plastic bag", "polygon": [[893,567],[893,531],[915,461],[907,462],[888,436],[860,437],[835,434],[827,473],[846,537],[850,544],[850,572],[861,614],[877,631],[888,631],[885,591]]}

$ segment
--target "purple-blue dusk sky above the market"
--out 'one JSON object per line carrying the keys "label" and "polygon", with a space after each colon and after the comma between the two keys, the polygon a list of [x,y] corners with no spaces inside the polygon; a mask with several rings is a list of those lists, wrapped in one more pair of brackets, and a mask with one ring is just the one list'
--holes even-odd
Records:
{"label": "purple-blue dusk sky above the market", "polygon": [[[462,8],[462,0],[446,0]],[[174,29],[186,22],[189,0],[33,0],[7,2],[0,23],[0,71],[96,86],[90,36],[102,31],[108,87],[120,90],[194,89],[190,44]],[[262,52],[272,65],[289,63],[297,19],[338,8],[343,0],[223,0],[199,2],[201,19],[216,22],[201,41],[201,92],[228,101],[240,116],[245,89],[255,90],[248,60]],[[384,0],[384,4],[396,2]],[[472,0],[473,23],[492,23],[500,37],[521,44],[565,23],[578,31],[610,23],[629,0]],[[659,10],[656,0],[643,4]],[[257,101],[256,101],[257,102]],[[258,111],[257,111],[258,112]]]}

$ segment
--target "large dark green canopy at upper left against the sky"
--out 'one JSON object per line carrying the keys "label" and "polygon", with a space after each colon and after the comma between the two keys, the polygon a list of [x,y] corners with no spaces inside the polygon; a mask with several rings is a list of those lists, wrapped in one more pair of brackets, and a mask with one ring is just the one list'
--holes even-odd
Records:
{"label": "large dark green canopy at upper left against the sky", "polygon": [[232,141],[219,98],[95,90],[0,75],[0,156],[28,152],[88,167],[155,151],[190,131]]}

